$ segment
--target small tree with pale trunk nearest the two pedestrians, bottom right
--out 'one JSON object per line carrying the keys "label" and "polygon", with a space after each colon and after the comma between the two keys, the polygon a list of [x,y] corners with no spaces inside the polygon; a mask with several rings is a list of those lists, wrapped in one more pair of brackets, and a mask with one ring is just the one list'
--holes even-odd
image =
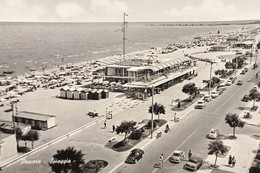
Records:
{"label": "small tree with pale trunk nearest the two pedestrians, bottom right", "polygon": [[214,166],[217,164],[217,159],[220,154],[224,154],[227,152],[227,147],[223,145],[223,142],[220,140],[216,140],[213,142],[210,142],[209,144],[209,151],[213,152],[216,156]]}

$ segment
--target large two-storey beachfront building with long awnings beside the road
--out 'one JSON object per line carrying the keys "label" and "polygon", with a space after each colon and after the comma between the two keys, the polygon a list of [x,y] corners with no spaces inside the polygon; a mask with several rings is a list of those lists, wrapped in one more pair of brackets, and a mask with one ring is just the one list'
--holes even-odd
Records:
{"label": "large two-storey beachfront building with long awnings beside the road", "polygon": [[170,53],[156,54],[156,58],[153,55],[144,57],[122,59],[118,63],[107,65],[106,80],[121,82],[131,97],[144,98],[144,90],[148,90],[149,95],[152,86],[160,92],[196,73],[194,60],[189,57],[173,58]]}

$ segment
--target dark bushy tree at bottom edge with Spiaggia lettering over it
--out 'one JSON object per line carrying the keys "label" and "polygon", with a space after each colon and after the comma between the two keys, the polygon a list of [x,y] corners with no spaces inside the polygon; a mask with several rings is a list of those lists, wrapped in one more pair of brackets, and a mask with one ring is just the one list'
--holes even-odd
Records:
{"label": "dark bushy tree at bottom edge with Spiaggia lettering over it", "polygon": [[65,150],[57,150],[49,165],[55,173],[80,173],[82,166],[85,164],[83,156],[81,150],[77,151],[74,147],[68,147]]}

